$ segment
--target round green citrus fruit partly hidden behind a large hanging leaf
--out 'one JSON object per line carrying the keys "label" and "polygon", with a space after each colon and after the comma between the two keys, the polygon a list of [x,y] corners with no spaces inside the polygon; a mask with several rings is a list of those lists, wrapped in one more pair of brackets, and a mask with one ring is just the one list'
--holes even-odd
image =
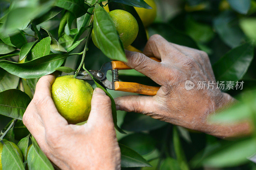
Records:
{"label": "round green citrus fruit partly hidden behind a large hanging leaf", "polygon": [[[132,42],[136,39],[139,32],[139,26],[136,19],[132,16],[132,14],[124,10],[113,10],[108,12],[108,14],[114,22],[114,25],[120,39],[123,42],[124,47],[131,45]],[[94,30],[92,30],[92,41],[95,46],[99,48],[95,40]]]}

